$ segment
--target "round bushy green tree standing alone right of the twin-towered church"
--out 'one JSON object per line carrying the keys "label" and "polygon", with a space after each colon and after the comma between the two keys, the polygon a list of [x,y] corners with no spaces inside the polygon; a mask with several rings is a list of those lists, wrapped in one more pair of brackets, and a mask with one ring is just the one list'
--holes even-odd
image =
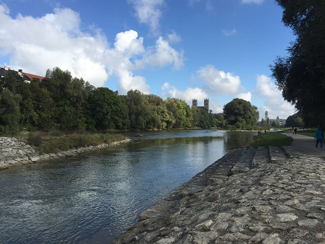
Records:
{"label": "round bushy green tree standing alone right of the twin-towered church", "polygon": [[[228,125],[240,127],[255,126],[260,114],[258,108],[250,102],[235,98],[224,106],[224,116]],[[238,124],[239,123],[239,124]]]}

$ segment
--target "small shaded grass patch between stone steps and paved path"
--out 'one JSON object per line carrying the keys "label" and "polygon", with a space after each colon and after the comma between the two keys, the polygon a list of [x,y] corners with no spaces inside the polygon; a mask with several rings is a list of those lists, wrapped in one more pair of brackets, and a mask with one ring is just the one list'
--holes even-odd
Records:
{"label": "small shaded grass patch between stone steps and paved path", "polygon": [[259,146],[289,146],[291,145],[292,137],[287,137],[281,132],[271,132],[260,134],[253,137],[253,142],[250,146],[258,148]]}

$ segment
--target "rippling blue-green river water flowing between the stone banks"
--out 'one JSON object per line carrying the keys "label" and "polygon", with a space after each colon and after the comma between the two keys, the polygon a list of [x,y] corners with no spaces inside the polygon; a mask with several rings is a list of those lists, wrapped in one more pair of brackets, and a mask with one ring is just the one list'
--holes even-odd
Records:
{"label": "rippling blue-green river water flowing between the stone banks", "polygon": [[256,133],[141,134],[139,143],[0,171],[0,243],[111,243],[142,211]]}

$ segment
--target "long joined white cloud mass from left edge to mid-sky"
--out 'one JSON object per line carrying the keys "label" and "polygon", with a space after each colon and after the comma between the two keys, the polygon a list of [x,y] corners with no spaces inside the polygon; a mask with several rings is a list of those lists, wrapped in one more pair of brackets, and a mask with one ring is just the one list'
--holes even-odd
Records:
{"label": "long joined white cloud mass from left edge to mid-sky", "polygon": [[81,31],[79,14],[69,8],[55,8],[40,18],[21,14],[11,18],[6,5],[0,4],[0,23],[0,56],[8,55],[15,70],[44,75],[48,68],[59,67],[96,87],[114,75],[125,94],[130,89],[150,92],[145,78],[133,76],[132,70],[183,65],[183,52],[162,37],[155,46],[145,47],[143,37],[130,30],[118,33],[110,47],[99,30]]}

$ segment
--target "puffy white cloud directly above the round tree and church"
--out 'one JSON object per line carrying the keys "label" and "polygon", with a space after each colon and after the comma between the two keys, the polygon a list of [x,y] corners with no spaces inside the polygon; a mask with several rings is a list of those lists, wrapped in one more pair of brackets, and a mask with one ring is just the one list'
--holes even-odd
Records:
{"label": "puffy white cloud directly above the round tree and church", "polygon": [[204,89],[213,94],[233,95],[238,93],[240,78],[238,75],[218,70],[212,65],[207,65],[197,70],[197,78],[205,83]]}

